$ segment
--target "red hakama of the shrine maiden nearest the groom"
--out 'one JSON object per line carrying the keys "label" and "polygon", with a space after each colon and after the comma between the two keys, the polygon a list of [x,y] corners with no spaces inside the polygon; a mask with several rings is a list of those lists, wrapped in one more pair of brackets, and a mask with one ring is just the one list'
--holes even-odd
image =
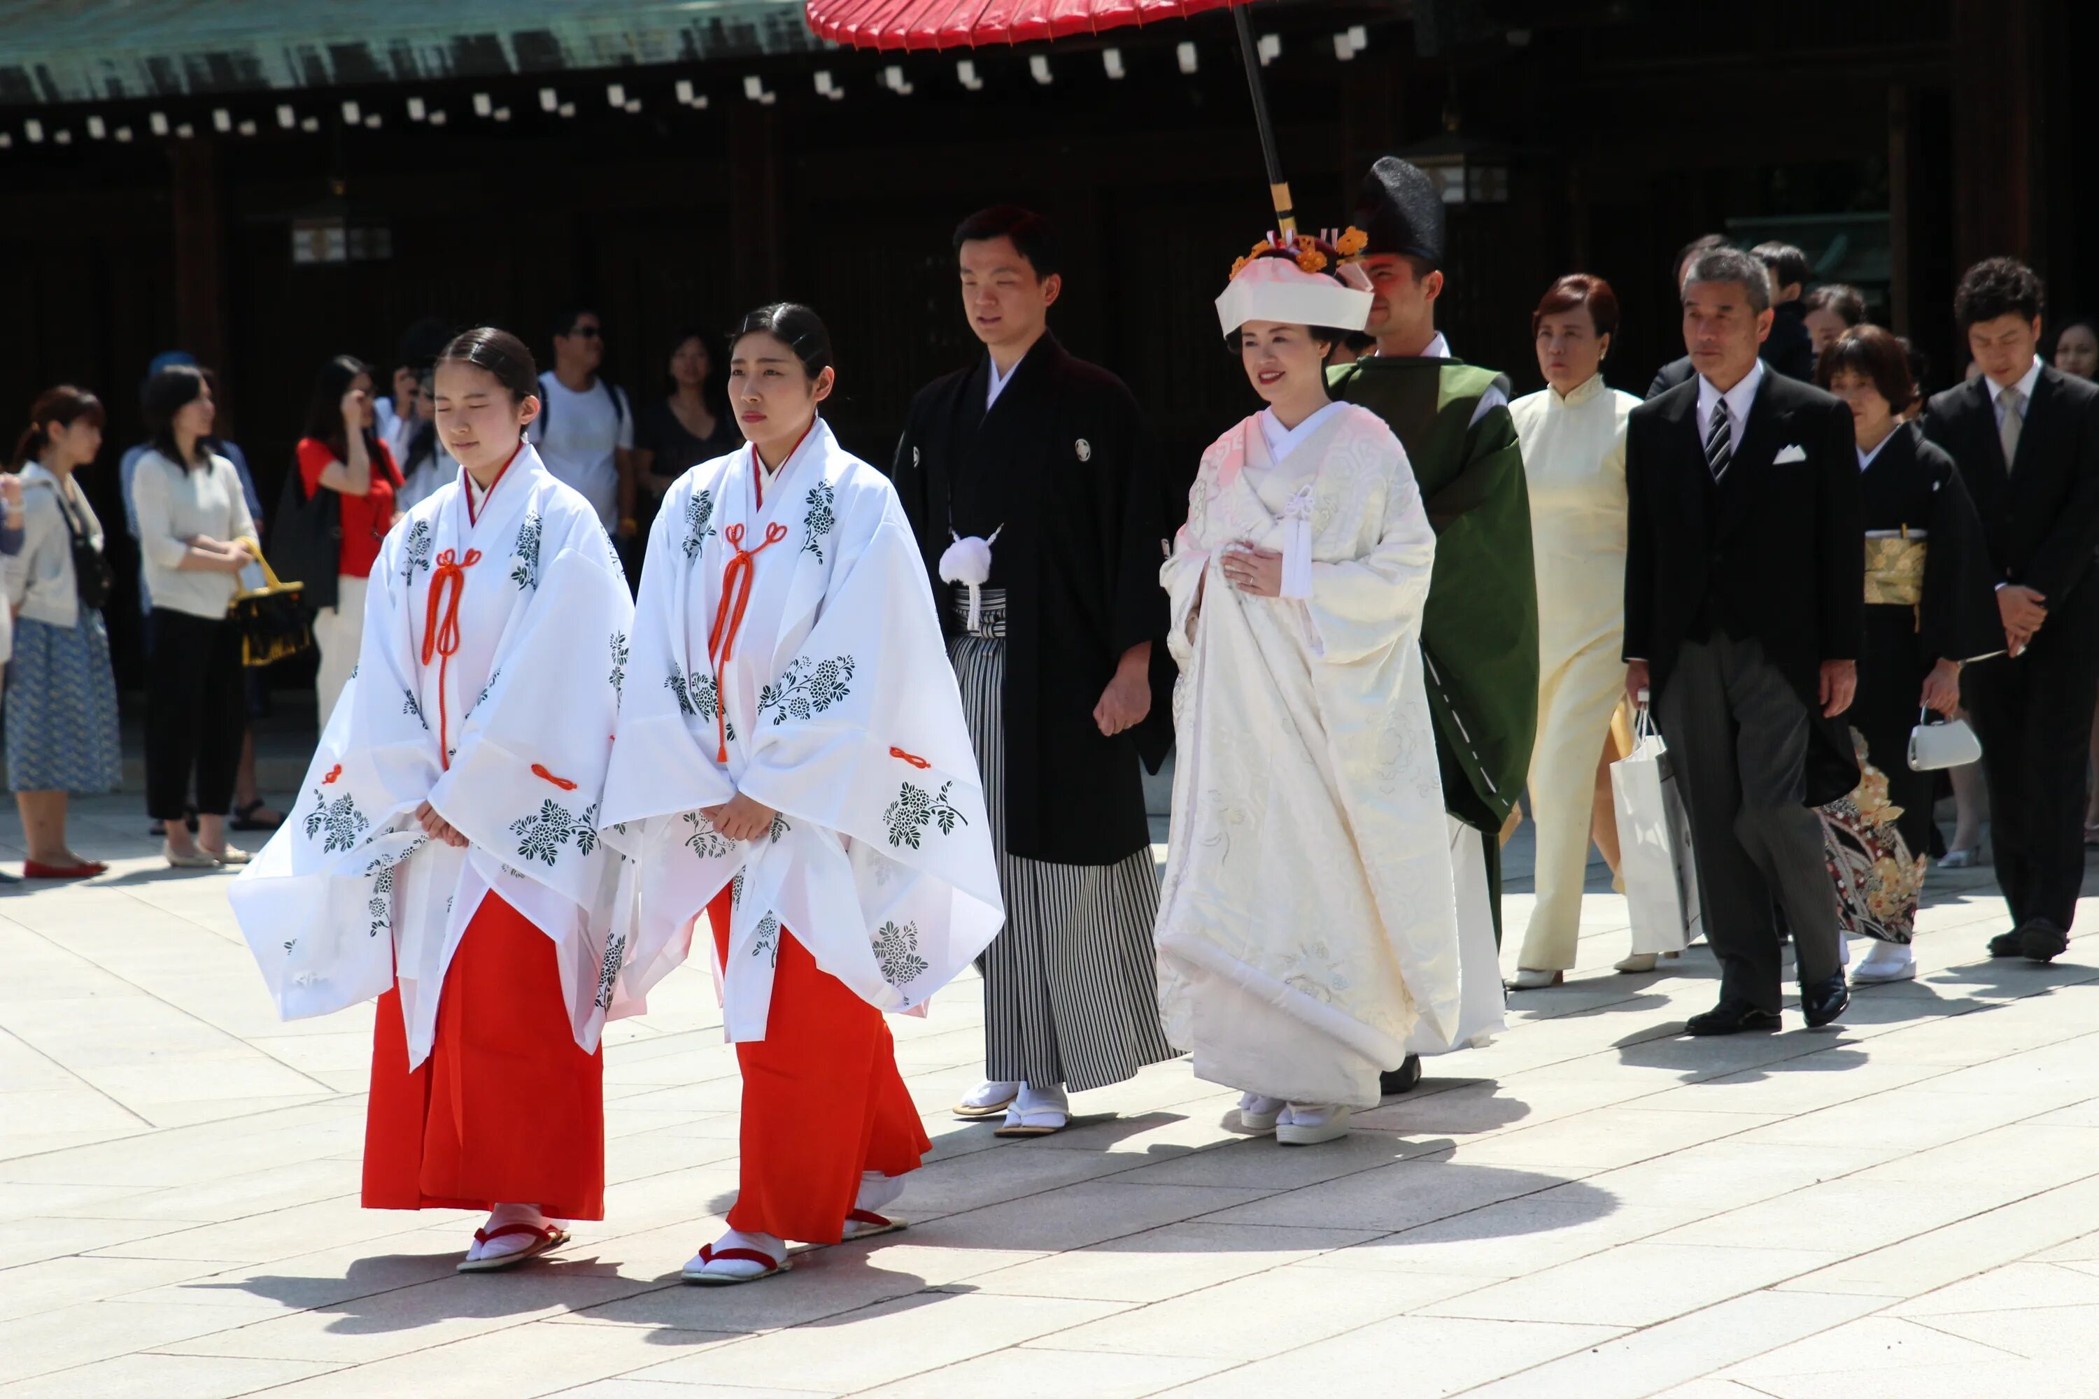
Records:
{"label": "red hakama of the shrine maiden nearest the groom", "polygon": [[[707,917],[720,965],[728,961],[728,889]],[[882,1011],[819,969],[785,927],[766,1038],[737,1045],[737,1063],[743,1162],[730,1229],[835,1244],[863,1170],[905,1175],[932,1149]]]}

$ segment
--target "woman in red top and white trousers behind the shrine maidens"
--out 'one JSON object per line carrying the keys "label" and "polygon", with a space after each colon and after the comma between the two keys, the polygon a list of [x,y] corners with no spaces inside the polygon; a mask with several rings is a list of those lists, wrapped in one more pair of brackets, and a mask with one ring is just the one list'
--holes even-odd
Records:
{"label": "woman in red top and white trousers behind the shrine maidens", "polygon": [[338,354],[321,365],[306,405],[306,436],[298,440],[298,474],[306,499],[323,487],[342,503],[342,554],[336,562],[336,604],[313,619],[313,646],[321,673],[313,682],[321,726],[334,713],[342,686],[357,669],[357,642],[365,627],[365,579],[380,541],[395,522],[401,468],[374,430],[372,365]]}

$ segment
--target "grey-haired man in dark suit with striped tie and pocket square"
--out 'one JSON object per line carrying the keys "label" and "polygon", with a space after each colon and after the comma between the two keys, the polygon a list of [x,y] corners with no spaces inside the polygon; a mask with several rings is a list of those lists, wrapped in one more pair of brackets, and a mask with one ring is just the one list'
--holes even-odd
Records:
{"label": "grey-haired man in dark suit with striped tie and pocket square", "polygon": [[1717,247],[1683,281],[1698,378],[1633,409],[1625,445],[1625,688],[1652,690],[1683,784],[1721,963],[1690,1034],[1776,1030],[1793,925],[1801,1013],[1849,1005],[1837,891],[1811,808],[1858,784],[1837,717],[1858,686],[1862,514],[1851,415],[1757,357],[1772,287]]}

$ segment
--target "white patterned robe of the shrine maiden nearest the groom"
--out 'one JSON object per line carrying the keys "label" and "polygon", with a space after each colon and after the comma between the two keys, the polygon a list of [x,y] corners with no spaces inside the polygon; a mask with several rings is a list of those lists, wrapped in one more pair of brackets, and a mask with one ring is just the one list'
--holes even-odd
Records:
{"label": "white patterned robe of the shrine maiden nearest the groom", "polygon": [[[1005,923],[984,791],[896,491],[821,419],[764,485],[695,466],[649,537],[605,839],[630,862],[615,938],[646,996],[730,883],[730,1040],[762,1040],[785,925],[882,1011],[921,1011]],[[730,841],[735,793],[779,812]],[[712,952],[707,954],[714,961]]]}

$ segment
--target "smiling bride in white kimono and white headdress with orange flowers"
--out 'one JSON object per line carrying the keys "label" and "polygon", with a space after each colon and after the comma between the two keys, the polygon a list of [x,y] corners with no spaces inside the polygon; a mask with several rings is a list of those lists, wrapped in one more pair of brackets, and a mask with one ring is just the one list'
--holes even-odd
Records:
{"label": "smiling bride in white kimono and white headdress with orange flowers", "polygon": [[1217,319],[1268,407],[1203,455],[1161,573],[1182,673],[1167,1036],[1245,1091],[1243,1131],[1293,1145],[1343,1137],[1417,1028],[1459,1017],[1419,646],[1436,535],[1392,430],[1327,399],[1366,287],[1310,239],[1232,268]]}

